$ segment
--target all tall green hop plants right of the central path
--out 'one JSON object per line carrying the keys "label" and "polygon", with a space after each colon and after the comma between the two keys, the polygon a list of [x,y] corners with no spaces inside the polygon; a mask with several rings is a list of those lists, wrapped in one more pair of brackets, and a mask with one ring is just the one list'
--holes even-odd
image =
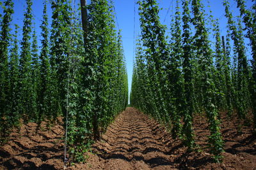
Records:
{"label": "all tall green hop plants right of the central path", "polygon": [[[156,0],[138,1],[141,34],[131,104],[166,125],[189,151],[196,148],[193,117],[204,113],[216,161],[223,152],[220,112],[230,118],[237,116],[241,125],[256,127],[256,4],[250,9],[244,0],[236,3],[238,20],[232,16],[228,1],[223,1],[228,22],[227,34],[221,36],[218,20],[207,15],[201,0],[177,0],[168,39]],[[251,63],[245,37],[252,47]]]}

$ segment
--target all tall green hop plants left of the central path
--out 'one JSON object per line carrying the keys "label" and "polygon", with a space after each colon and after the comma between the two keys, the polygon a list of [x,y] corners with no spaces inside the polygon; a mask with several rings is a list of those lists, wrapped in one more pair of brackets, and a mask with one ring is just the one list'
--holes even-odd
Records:
{"label": "all tall green hop plants left of the central path", "polygon": [[21,121],[40,125],[50,120],[51,125],[61,116],[68,127],[70,159],[83,161],[87,146],[99,139],[128,101],[122,38],[115,28],[113,4],[91,1],[86,6],[88,32],[83,32],[79,4],[52,0],[50,12],[44,1],[42,22],[36,23],[41,28],[40,48],[32,4],[26,0],[21,41],[19,26],[12,22],[13,1],[1,4],[1,142]]}

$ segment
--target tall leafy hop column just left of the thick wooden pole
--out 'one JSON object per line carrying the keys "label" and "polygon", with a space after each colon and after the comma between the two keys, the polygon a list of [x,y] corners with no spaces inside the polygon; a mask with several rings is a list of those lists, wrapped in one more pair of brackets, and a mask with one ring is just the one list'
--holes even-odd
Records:
{"label": "tall leafy hop column just left of the thick wooden pole", "polygon": [[[51,67],[54,92],[60,111],[67,112],[67,78],[69,66],[68,40],[70,39],[71,3],[69,0],[52,1]],[[55,80],[54,80],[55,79]],[[58,113],[58,110],[54,111]]]}

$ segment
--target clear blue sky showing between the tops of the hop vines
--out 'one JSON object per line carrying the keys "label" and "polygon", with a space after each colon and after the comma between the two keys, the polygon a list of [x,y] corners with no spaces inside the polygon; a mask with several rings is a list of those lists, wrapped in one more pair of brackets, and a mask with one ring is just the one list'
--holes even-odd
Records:
{"label": "clear blue sky showing between the tops of the hop vines", "polygon": [[[4,1],[4,0],[0,0]],[[79,0],[73,0],[75,3],[79,3]],[[137,0],[136,0],[137,1]],[[12,25],[18,24],[20,26],[20,32],[21,34],[21,28],[22,28],[22,20],[23,20],[23,14],[24,10],[26,9],[26,1],[25,0],[13,0],[14,2],[14,15],[13,15],[13,22]],[[140,31],[140,22],[139,22],[139,15],[138,15],[138,5],[135,5],[135,13],[134,13],[134,0],[113,0],[115,5],[115,11],[116,11],[116,18],[119,29],[122,30],[122,37],[123,37],[123,45],[124,45],[124,54],[125,54],[125,60],[127,63],[127,73],[128,73],[128,79],[129,79],[129,90],[131,89],[131,79],[132,79],[132,62],[134,58],[134,35],[135,38],[138,36],[138,32]],[[159,7],[163,8],[160,13],[160,20],[161,23],[166,25],[168,28],[167,32],[170,32],[170,24],[171,24],[171,18],[172,15],[175,13],[175,0],[158,0]],[[222,0],[202,0],[202,2],[205,5],[205,11],[209,13],[209,10],[212,10],[212,15],[214,18],[220,19],[220,29],[221,29],[221,35],[225,35],[226,32],[226,26],[227,26],[227,19],[224,17],[224,7],[222,5]],[[90,1],[88,1],[90,3]],[[252,1],[247,0],[246,4],[248,7],[252,6]],[[230,6],[231,10],[234,12],[235,15],[239,15],[237,8],[236,8],[236,2],[234,0],[230,0]],[[42,11],[43,11],[43,1],[42,0],[34,0],[33,1],[33,14],[35,18],[35,28],[36,32],[38,34],[38,43],[40,43],[40,24],[42,20]],[[48,10],[49,10],[49,18],[51,18],[51,6],[48,4]],[[3,10],[0,10],[1,13],[3,13]],[[135,22],[134,22],[135,19]],[[51,25],[51,24],[49,24]],[[117,25],[117,24],[116,24]],[[135,29],[134,29],[135,28]],[[212,39],[212,36],[210,37]],[[21,40],[22,37],[19,36],[19,40]],[[246,39],[246,43],[248,43],[248,39]],[[250,51],[250,48],[248,48]],[[248,52],[248,55],[250,52]],[[250,58],[250,56],[248,56]]]}

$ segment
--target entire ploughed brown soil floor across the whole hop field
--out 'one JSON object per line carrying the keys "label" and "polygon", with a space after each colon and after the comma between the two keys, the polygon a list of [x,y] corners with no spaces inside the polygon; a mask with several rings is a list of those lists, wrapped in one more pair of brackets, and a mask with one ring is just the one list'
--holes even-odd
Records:
{"label": "entire ploughed brown soil floor across the whole hop field", "polygon": [[[93,144],[87,162],[68,169],[256,169],[256,136],[250,127],[237,133],[236,120],[221,118],[225,141],[221,164],[209,154],[204,117],[196,116],[194,122],[200,152],[188,153],[179,139],[172,139],[152,118],[127,108]],[[33,123],[22,126],[0,147],[0,169],[63,169],[63,134],[61,123],[48,131],[44,125],[38,131]]]}

